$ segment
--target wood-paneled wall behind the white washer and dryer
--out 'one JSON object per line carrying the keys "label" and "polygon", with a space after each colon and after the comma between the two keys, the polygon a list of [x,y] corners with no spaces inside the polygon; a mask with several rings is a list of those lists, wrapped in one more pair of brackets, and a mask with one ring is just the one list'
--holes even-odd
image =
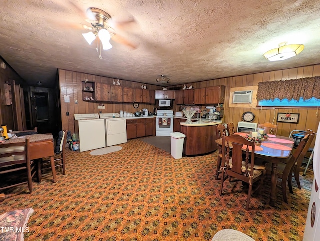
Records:
{"label": "wood-paneled wall behind the white washer and dryer", "polygon": [[[116,103],[116,102],[89,102],[82,100],[82,81],[88,79],[97,83],[113,84],[114,78],[101,77],[86,73],[73,72],[68,70],[59,69],[59,83],[60,83],[60,99],[61,99],[61,116],[62,116],[62,128],[67,128],[74,133],[74,114],[85,113],[119,113],[120,110],[134,113],[140,111],[143,108],[147,108],[150,112],[153,112],[155,105],[139,103],[139,107],[135,109],[133,103]],[[120,79],[121,86],[131,88],[141,88],[142,83],[126,81]],[[146,84],[147,89],[155,90],[162,89],[160,86]],[[70,96],[70,103],[64,102],[64,95]],[[75,100],[78,103],[75,103]],[[98,109],[97,106],[103,103],[105,109]],[[69,116],[66,113],[69,113]]]}

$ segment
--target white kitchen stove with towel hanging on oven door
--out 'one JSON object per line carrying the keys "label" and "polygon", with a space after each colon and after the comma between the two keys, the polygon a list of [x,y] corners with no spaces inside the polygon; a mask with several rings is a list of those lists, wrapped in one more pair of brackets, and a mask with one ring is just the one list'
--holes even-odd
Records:
{"label": "white kitchen stove with towel hanging on oven door", "polygon": [[156,136],[170,136],[173,133],[173,110],[158,110],[156,116]]}

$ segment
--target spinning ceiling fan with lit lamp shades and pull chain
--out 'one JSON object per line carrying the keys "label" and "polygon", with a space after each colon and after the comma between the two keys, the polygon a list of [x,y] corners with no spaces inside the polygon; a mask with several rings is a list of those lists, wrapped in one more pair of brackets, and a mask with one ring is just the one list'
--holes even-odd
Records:
{"label": "spinning ceiling fan with lit lamp shades and pull chain", "polygon": [[124,25],[134,22],[134,19],[125,22],[115,22],[112,21],[111,16],[107,12],[95,7],[90,7],[87,9],[87,16],[89,17],[89,19],[87,19],[86,21],[88,21],[91,24],[91,26],[83,25],[83,27],[86,30],[91,31],[83,33],[82,35],[90,45],[94,40],[97,40],[97,51],[99,51],[98,40],[100,40],[99,58],[102,58],[101,43],[103,50],[108,50],[112,48],[112,45],[109,42],[110,39],[112,39],[115,42],[124,44],[130,47],[131,49],[137,48],[136,44],[133,44],[130,41],[126,40],[124,37],[117,34],[114,30],[114,27],[120,29]]}

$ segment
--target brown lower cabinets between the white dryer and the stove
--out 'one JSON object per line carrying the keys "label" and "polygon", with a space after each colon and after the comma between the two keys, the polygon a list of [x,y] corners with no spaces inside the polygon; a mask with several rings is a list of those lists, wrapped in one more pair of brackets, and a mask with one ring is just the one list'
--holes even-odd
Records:
{"label": "brown lower cabinets between the white dryer and the stove", "polygon": [[126,120],[127,139],[154,135],[154,118],[137,118]]}

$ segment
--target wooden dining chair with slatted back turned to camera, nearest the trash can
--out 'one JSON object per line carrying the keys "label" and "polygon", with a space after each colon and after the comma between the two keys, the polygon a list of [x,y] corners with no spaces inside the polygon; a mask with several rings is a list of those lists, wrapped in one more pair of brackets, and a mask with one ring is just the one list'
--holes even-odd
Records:
{"label": "wooden dining chair with slatted back turned to camera, nearest the trash can", "polygon": [[[232,157],[230,158],[230,144],[232,144]],[[222,136],[222,177],[220,195],[223,191],[223,183],[226,177],[234,177],[237,180],[249,184],[246,210],[249,210],[249,203],[252,194],[252,185],[260,180],[259,189],[265,176],[265,166],[254,165],[255,142],[247,140],[240,135]],[[243,154],[243,151],[245,153]],[[250,153],[251,151],[251,153]],[[244,158],[243,158],[244,157]],[[250,161],[249,161],[250,160]],[[229,178],[230,179],[230,178]]]}

